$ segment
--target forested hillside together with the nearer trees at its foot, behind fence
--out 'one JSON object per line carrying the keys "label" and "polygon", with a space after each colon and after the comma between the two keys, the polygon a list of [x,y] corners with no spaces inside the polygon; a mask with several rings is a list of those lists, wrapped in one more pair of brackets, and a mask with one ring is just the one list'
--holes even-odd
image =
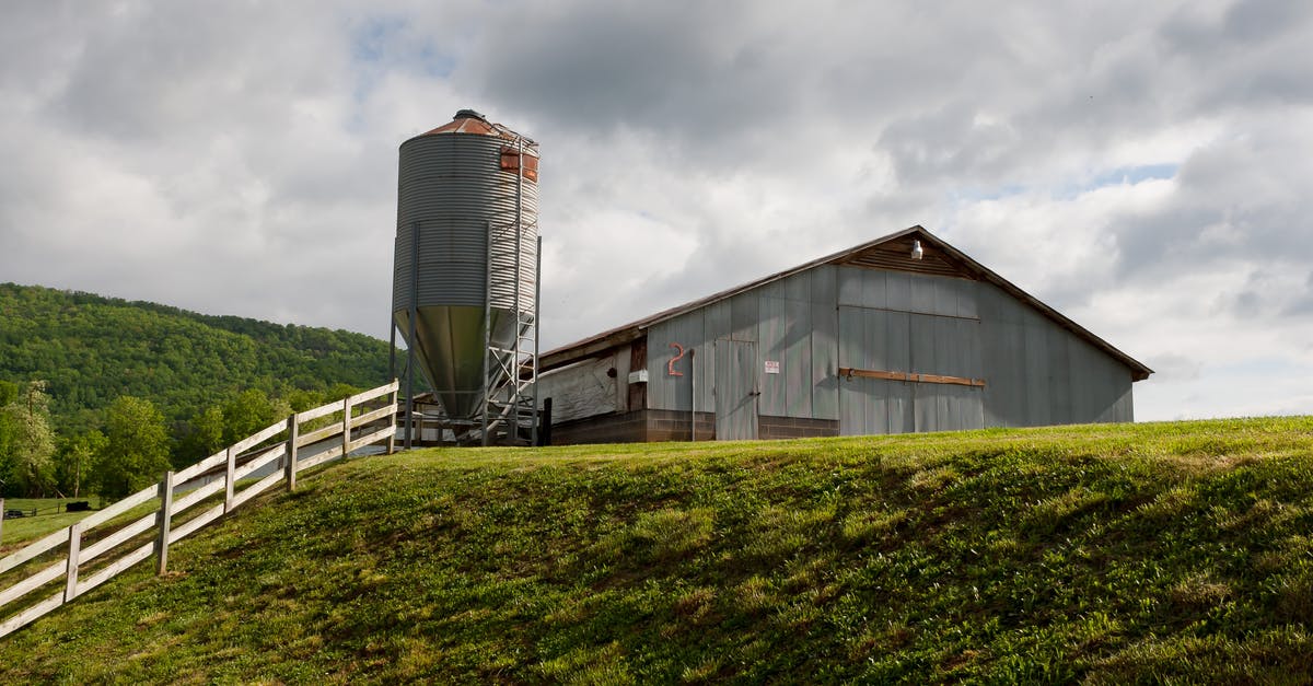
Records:
{"label": "forested hillside together with the nearer trees at its foot, behind fence", "polygon": [[[0,284],[0,494],[101,489],[116,452],[189,464],[386,377],[387,343],[364,334]],[[119,446],[116,426],[164,446]]]}

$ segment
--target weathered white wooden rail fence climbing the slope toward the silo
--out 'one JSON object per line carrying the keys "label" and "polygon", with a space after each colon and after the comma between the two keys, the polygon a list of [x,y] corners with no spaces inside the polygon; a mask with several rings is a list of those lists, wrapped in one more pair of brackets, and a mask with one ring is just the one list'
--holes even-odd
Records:
{"label": "weathered white wooden rail fence climbing the slope toward the silo", "polygon": [[[8,587],[3,587],[0,581],[0,637],[72,602],[151,556],[156,559],[156,573],[163,574],[171,544],[280,481],[286,482],[288,490],[295,489],[298,472],[376,443],[386,443],[390,455],[397,436],[397,388],[394,380],[340,402],[293,414],[183,470],[167,472],[158,485],[139,490],[0,559],[0,580],[11,570],[25,573],[29,568],[35,569]],[[340,421],[332,417],[337,413],[341,414]],[[324,423],[324,418],[331,418],[330,423],[319,426]],[[310,424],[305,427],[305,432],[302,424]],[[280,440],[272,443],[274,438]],[[318,452],[301,459],[303,448]],[[281,469],[255,482],[243,482],[274,461],[281,461]],[[201,482],[207,476],[211,478]],[[243,486],[240,490],[239,485]],[[221,492],[223,499],[218,502]],[[193,509],[211,498],[215,501],[211,507],[204,511]],[[105,531],[109,528],[105,524],[110,520],[151,501],[156,501],[158,507],[150,514]],[[184,513],[190,516],[184,516]],[[93,534],[97,528],[100,531]],[[56,549],[63,552],[53,562],[41,560],[51,557],[51,551]],[[63,583],[56,593],[43,599],[32,599],[32,594],[59,581]],[[11,614],[12,616],[7,616]]]}

